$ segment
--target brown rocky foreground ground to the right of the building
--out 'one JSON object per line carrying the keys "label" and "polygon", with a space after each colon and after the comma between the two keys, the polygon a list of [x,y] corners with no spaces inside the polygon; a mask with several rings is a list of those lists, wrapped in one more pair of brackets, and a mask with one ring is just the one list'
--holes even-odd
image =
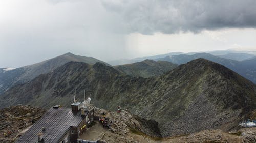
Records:
{"label": "brown rocky foreground ground to the right of the building", "polygon": [[[184,136],[162,138],[158,134],[158,127],[152,124],[148,127],[148,121],[131,115],[122,110],[121,113],[109,112],[96,108],[95,115],[102,117],[102,113],[113,121],[112,132],[104,132],[101,142],[255,142],[256,128],[242,128],[233,132],[223,132],[222,130],[203,130]],[[94,128],[94,127],[92,127]],[[153,130],[155,129],[155,130]],[[90,129],[89,129],[90,130]],[[95,129],[97,130],[97,129]]]}

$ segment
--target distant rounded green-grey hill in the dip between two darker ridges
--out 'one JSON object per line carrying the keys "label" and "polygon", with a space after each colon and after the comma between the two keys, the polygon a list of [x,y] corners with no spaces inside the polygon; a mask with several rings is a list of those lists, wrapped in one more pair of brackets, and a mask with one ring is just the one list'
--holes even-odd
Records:
{"label": "distant rounded green-grey hill in the dip between two darker ridges", "polygon": [[178,65],[167,61],[144,60],[127,65],[114,66],[120,72],[133,77],[152,77],[162,75],[167,71],[176,68]]}

